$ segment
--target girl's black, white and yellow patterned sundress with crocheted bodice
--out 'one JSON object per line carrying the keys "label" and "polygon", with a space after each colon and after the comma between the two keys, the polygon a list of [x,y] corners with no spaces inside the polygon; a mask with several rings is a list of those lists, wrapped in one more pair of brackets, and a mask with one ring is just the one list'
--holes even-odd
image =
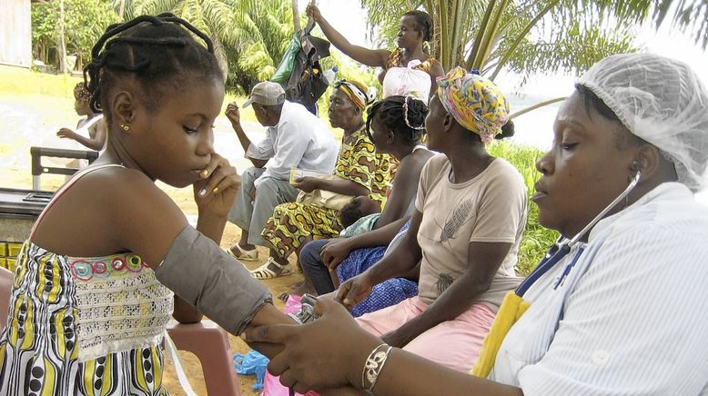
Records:
{"label": "girl's black, white and yellow patterned sundress with crocheted bodice", "polygon": [[137,254],[67,257],[25,242],[0,335],[0,395],[168,394],[160,343],[173,299]]}

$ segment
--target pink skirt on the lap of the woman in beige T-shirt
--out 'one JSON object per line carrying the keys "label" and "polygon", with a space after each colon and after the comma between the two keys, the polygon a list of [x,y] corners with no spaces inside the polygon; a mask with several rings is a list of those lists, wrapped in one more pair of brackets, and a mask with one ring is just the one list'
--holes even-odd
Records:
{"label": "pink skirt on the lap of the woman in beige T-shirt", "polygon": [[[413,297],[377,312],[364,314],[357,318],[357,322],[367,332],[380,337],[400,328],[428,307],[418,297]],[[494,312],[484,304],[475,303],[452,321],[442,322],[423,332],[403,350],[452,370],[467,372],[477,361],[481,344],[493,321]]]}

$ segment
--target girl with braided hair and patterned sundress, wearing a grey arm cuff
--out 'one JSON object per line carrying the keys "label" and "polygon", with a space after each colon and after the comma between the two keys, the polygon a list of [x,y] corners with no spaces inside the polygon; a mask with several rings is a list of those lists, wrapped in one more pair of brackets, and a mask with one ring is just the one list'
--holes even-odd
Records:
{"label": "girl with braided hair and patterned sundress, wearing a grey arm cuff", "polygon": [[[180,322],[204,312],[237,334],[289,322],[217,246],[240,182],[214,152],[224,81],[207,36],[144,15],[109,26],[92,57],[86,86],[106,152],[56,193],[18,256],[0,394],[166,394],[167,288],[185,299],[174,298]],[[156,180],[193,185],[197,230]]]}

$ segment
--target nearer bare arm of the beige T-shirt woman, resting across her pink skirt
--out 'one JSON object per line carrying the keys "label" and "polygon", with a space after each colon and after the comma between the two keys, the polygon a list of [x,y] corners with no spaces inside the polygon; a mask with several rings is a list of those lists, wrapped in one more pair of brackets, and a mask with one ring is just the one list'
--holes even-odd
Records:
{"label": "nearer bare arm of the beige T-shirt woman, resting across her pink skirt", "polygon": [[451,321],[489,290],[494,274],[511,249],[511,243],[470,243],[468,267],[430,307],[399,329],[381,337],[383,342],[404,347],[421,333],[441,322]]}

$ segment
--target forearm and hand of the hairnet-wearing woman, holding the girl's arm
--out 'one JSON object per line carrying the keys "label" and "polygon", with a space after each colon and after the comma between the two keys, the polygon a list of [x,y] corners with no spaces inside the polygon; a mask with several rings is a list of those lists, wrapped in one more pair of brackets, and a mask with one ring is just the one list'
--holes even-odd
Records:
{"label": "forearm and hand of the hairnet-wearing woman, holding the girl's arm", "polygon": [[[315,322],[302,326],[253,328],[247,332],[246,339],[285,345],[284,350],[268,363],[268,371],[279,375],[284,385],[294,385],[295,391],[305,393],[346,385],[360,390],[364,363],[369,352],[381,341],[362,330],[336,302],[319,298],[315,309],[321,314]],[[519,388],[452,371],[398,349],[390,352],[373,391],[374,394],[394,396],[523,395]]]}

